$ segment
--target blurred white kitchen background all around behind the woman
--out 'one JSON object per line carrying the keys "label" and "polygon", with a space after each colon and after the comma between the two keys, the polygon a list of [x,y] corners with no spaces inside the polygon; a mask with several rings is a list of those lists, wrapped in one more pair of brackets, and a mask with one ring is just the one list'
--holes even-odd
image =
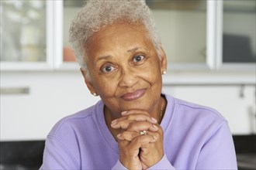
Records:
{"label": "blurred white kitchen background all around behind the woman", "polygon": [[[164,93],[213,107],[229,121],[239,169],[256,169],[256,1],[146,0],[168,73]],[[1,0],[0,169],[36,169],[62,117],[93,97],[68,43],[85,1]]]}

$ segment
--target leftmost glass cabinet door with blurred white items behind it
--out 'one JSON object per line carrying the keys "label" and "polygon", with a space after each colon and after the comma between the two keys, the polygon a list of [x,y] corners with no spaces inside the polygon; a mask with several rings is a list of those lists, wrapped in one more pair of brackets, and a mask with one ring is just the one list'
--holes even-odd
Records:
{"label": "leftmost glass cabinet door with blurred white items behind it", "polygon": [[1,70],[50,69],[49,1],[3,0],[0,8]]}

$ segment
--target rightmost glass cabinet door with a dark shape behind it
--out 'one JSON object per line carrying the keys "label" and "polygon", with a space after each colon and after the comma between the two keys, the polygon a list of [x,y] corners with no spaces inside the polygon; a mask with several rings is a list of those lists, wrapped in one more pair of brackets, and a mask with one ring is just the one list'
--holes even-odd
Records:
{"label": "rightmost glass cabinet door with a dark shape behind it", "polygon": [[222,37],[218,66],[220,69],[254,70],[256,61],[256,1],[220,2]]}

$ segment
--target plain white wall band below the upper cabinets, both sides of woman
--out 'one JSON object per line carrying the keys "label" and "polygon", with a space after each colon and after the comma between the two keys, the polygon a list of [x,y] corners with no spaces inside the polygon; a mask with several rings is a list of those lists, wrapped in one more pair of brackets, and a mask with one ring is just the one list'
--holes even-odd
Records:
{"label": "plain white wall band below the upper cabinets, both sides of woman", "polygon": [[[164,92],[219,110],[230,122],[233,134],[250,134],[253,121],[249,109],[255,106],[255,87],[245,87],[244,97],[237,86],[173,86],[173,83],[216,83],[224,80],[254,80],[253,74],[214,75],[169,73]],[[1,73],[1,88],[29,87],[29,94],[1,95],[1,141],[40,140],[61,117],[95,104],[82,76],[71,72]],[[254,128],[255,129],[255,128]]]}

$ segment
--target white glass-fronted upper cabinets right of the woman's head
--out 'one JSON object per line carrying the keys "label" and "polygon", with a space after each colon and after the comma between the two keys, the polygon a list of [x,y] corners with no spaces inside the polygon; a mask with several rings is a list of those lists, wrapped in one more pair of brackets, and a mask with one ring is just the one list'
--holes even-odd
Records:
{"label": "white glass-fronted upper cabinets right of the woman's head", "polygon": [[255,70],[256,2],[146,1],[170,70]]}

